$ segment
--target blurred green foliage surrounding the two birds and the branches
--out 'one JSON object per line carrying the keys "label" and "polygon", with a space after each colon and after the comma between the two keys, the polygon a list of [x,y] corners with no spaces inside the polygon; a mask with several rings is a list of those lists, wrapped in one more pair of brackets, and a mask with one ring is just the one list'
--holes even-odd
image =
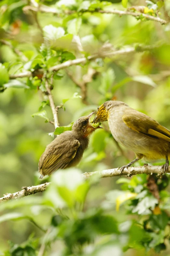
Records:
{"label": "blurred green foliage surrounding the two birds and the branches", "polygon": [[[56,14],[28,8],[37,5]],[[170,15],[168,0],[0,1],[0,196],[53,181],[42,195],[0,204],[0,255],[170,255],[168,174],[153,176],[159,198],[146,175],[89,181],[81,176],[134,158],[115,143],[107,124],[92,134],[79,169],[59,170],[43,180],[37,173],[52,138],[106,100],[124,101],[170,129],[170,26],[146,20],[142,13],[135,18],[95,12],[126,6],[145,6],[145,13],[163,19]],[[101,58],[102,52],[129,47],[135,51]],[[94,54],[98,58],[86,64],[49,72]],[[86,95],[80,84],[90,71]],[[10,79],[23,72],[32,76]],[[59,106],[56,129],[49,122],[44,74]]]}

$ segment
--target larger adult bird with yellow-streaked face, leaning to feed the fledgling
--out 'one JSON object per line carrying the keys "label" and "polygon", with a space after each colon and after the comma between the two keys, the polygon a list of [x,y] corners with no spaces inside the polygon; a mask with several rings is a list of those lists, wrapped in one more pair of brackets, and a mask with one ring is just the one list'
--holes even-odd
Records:
{"label": "larger adult bird with yellow-streaked face, leaning to feed the fledgling", "polygon": [[166,159],[161,170],[168,172],[170,158],[170,130],[148,115],[126,103],[109,100],[98,107],[93,123],[108,121],[115,140],[135,153],[135,160],[123,165],[121,173],[140,159],[151,162]]}

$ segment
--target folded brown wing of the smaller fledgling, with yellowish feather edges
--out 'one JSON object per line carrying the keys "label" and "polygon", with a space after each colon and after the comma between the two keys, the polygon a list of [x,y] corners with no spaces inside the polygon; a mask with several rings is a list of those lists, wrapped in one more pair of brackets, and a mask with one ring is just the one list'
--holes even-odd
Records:
{"label": "folded brown wing of the smaller fledgling, with yellowish feather edges", "polygon": [[45,158],[44,155],[41,156],[39,160],[39,170],[42,170],[41,172],[45,176],[59,168],[66,168],[75,157],[79,145],[78,140],[72,140],[69,141],[69,143],[68,141],[63,141],[55,148],[54,152],[50,152]]}

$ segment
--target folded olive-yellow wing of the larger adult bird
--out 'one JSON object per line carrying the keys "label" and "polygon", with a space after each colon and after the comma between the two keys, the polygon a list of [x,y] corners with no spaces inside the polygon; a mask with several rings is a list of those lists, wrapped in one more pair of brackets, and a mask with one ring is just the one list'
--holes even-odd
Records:
{"label": "folded olive-yellow wing of the larger adult bird", "polygon": [[122,116],[122,120],[134,131],[170,142],[170,130],[139,111],[132,110],[130,114],[125,112]]}

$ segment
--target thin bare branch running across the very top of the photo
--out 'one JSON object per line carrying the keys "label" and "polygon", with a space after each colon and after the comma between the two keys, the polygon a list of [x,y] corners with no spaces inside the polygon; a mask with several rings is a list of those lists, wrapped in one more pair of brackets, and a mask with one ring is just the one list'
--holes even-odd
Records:
{"label": "thin bare branch running across the very top of the photo", "polygon": [[[60,13],[57,11],[57,9],[55,8],[51,8],[51,7],[48,7],[48,6],[45,6],[45,5],[41,5],[39,7],[32,7],[32,6],[25,6],[23,8],[23,11],[24,12],[27,12],[28,10],[32,10],[32,11],[35,11],[35,12],[47,12],[47,13],[53,13],[53,14],[57,14],[57,15],[60,15]],[[132,12],[132,11],[121,11],[121,10],[116,10],[116,9],[113,9],[113,10],[93,10],[93,11],[90,11],[90,10],[81,10],[79,11],[79,13],[84,13],[84,12],[91,12],[91,13],[94,13],[94,12],[99,12],[99,13],[111,13],[111,14],[117,14],[119,16],[122,16],[122,15],[131,15],[131,16],[134,16],[134,17],[144,17],[148,20],[152,20],[152,21],[156,21],[156,22],[160,22],[162,25],[164,24],[167,24],[167,21],[159,18],[159,17],[155,17],[155,16],[152,16],[152,15],[148,15],[148,14],[144,14],[144,13],[141,13],[141,12]],[[72,14],[72,13],[75,13],[75,11],[67,11],[67,12],[64,12],[64,14]]]}

